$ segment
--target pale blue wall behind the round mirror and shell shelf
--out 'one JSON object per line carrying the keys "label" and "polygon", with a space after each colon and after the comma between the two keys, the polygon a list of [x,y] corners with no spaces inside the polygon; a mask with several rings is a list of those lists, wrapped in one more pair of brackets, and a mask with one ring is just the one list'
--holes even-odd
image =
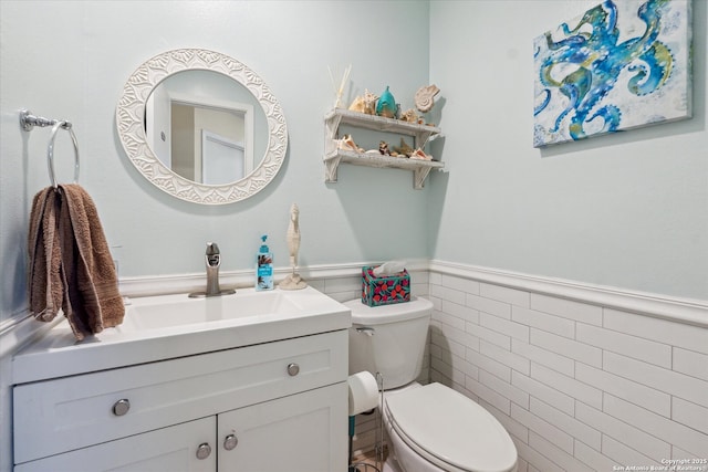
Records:
{"label": "pale blue wall behind the round mirror and shell shelf", "polygon": [[[352,64],[348,103],[391,85],[404,107],[428,80],[428,3],[420,1],[6,1],[0,2],[1,317],[24,307],[24,252],[32,196],[49,182],[50,130],[20,130],[18,111],[65,117],[81,148],[81,183],[94,198],[122,277],[201,273],[216,241],[222,271],[252,266],[271,235],[285,266],[284,234],[300,207],[301,265],[427,256],[429,190],[410,172],[342,166],[324,182],[323,116],[334,104],[327,66]],[[257,196],[217,208],[152,187],[128,162],[115,130],[126,78],[145,60],[204,48],[253,69],[288,120],[287,161]],[[62,143],[61,139],[66,143]],[[58,146],[67,145],[60,136]],[[63,180],[70,148],[56,151]]]}

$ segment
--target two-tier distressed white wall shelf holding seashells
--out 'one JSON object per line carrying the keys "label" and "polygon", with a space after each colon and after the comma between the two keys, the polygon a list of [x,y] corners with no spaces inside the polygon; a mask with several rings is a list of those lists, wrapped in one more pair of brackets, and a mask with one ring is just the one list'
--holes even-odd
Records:
{"label": "two-tier distressed white wall shelf holding seashells", "polygon": [[407,157],[383,156],[372,153],[356,153],[337,148],[339,129],[341,125],[351,125],[357,128],[375,132],[394,133],[413,136],[414,148],[423,147],[431,136],[441,133],[440,128],[429,125],[402,122],[399,119],[384,118],[382,116],[366,115],[344,108],[335,108],[324,116],[324,165],[325,181],[337,181],[337,168],[340,164],[353,164],[356,166],[384,167],[413,171],[413,187],[421,189],[430,170],[445,168],[445,162],[439,160],[420,160]]}

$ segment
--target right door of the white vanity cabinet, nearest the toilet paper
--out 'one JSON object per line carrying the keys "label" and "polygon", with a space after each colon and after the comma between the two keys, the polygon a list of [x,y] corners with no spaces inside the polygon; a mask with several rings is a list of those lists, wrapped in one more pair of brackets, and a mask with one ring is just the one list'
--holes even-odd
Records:
{"label": "right door of the white vanity cabinet, nearest the toilet paper", "polygon": [[341,382],[219,415],[219,471],[346,470],[347,399]]}

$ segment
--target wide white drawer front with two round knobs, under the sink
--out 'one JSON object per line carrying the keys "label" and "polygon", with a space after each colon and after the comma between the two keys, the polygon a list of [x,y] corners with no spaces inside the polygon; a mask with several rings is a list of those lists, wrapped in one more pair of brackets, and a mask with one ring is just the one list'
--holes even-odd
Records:
{"label": "wide white drawer front with two round knobs, under the sink", "polygon": [[14,463],[346,380],[346,329],[13,388]]}

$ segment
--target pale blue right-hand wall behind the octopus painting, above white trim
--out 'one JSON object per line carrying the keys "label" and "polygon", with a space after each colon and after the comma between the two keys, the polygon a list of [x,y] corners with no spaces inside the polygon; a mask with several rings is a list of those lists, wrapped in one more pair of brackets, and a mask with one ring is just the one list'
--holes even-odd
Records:
{"label": "pale blue right-hand wall behind the octopus painting, above white trim", "polygon": [[532,40],[597,3],[430,2],[449,168],[433,180],[430,254],[706,300],[706,1],[693,2],[693,119],[532,147]]}

